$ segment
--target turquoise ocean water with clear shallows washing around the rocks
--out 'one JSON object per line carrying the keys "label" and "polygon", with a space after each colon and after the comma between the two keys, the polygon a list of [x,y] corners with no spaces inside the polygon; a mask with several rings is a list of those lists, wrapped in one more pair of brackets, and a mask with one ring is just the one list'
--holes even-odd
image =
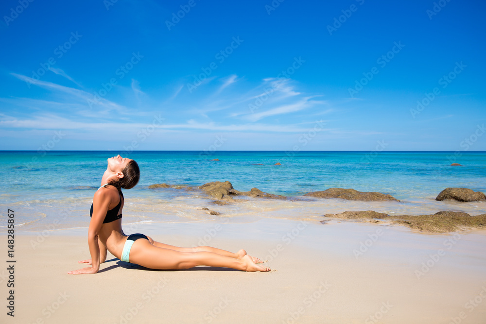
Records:
{"label": "turquoise ocean water with clear shallows washing around the rocks", "polygon": [[[85,228],[89,207],[106,159],[115,151],[0,151],[0,231],[7,208],[16,211],[17,231]],[[143,222],[252,222],[261,218],[318,221],[345,210],[376,210],[418,215],[461,210],[476,215],[486,204],[436,202],[447,187],[486,192],[486,153],[461,152],[278,152],[278,151],[146,151],[128,157],[140,167],[139,184],[124,190],[123,224]],[[212,159],[220,161],[211,161]],[[281,163],[277,166],[275,163]],[[462,164],[452,167],[451,162]],[[149,189],[157,183],[200,186],[230,181],[235,189],[295,197],[295,200],[242,198],[216,206],[198,190]],[[353,202],[304,199],[304,193],[328,188],[354,188],[391,194],[401,202]],[[217,210],[209,215],[201,207]]]}

